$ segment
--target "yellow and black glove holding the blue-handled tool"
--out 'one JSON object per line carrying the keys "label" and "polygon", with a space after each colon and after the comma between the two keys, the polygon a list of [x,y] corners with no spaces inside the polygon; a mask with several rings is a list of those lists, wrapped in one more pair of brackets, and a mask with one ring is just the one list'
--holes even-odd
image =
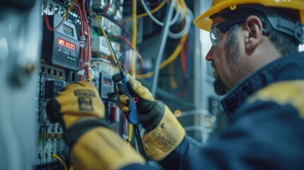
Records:
{"label": "yellow and black glove holding the blue-handled tool", "polygon": [[[118,106],[125,113],[130,111],[130,100],[137,98],[136,106],[140,124],[145,128],[145,135],[142,136],[142,143],[147,156],[156,161],[167,157],[184,139],[185,130],[162,101],[154,100],[151,92],[142,86],[140,81],[128,76],[128,90],[126,94],[123,84],[116,84],[118,93]],[[120,74],[113,76],[113,81],[120,81]]]}

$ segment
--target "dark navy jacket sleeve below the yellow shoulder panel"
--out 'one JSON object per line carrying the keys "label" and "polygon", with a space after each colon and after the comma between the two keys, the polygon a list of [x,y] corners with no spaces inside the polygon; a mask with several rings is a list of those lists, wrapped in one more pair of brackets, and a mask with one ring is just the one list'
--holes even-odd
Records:
{"label": "dark navy jacket sleeve below the yellow shoulder panel", "polygon": [[288,104],[247,103],[207,147],[186,136],[159,163],[164,169],[187,170],[304,169],[304,120]]}

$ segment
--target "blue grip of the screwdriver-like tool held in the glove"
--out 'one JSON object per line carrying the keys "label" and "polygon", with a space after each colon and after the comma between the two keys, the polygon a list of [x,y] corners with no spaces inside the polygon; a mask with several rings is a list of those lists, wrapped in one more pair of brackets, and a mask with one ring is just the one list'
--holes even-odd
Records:
{"label": "blue grip of the screwdriver-like tool held in the glove", "polygon": [[[124,77],[123,79],[121,79],[121,82],[123,83],[123,87],[125,88],[125,93],[130,94],[129,90],[128,90],[128,86],[127,86],[128,81],[129,81],[128,77]],[[130,96],[132,96],[132,94],[130,94]],[[131,123],[132,125],[138,125],[140,123],[137,118],[137,107],[136,107],[134,101],[132,100],[132,98],[130,98],[130,99],[131,100],[130,100],[129,108],[131,111],[129,113],[126,113],[127,119],[129,121],[129,123]]]}

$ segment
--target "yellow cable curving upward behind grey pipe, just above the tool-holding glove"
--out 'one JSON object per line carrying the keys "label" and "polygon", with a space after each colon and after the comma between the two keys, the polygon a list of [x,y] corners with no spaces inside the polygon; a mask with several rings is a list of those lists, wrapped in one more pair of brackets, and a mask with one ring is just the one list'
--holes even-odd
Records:
{"label": "yellow cable curving upward behind grey pipe, just above the tool-holding glove", "polygon": [[[188,37],[188,33],[186,33],[185,35],[183,35],[183,37],[181,38],[181,40],[179,41],[179,45],[177,45],[176,49],[174,50],[174,52],[171,54],[171,56],[169,58],[167,58],[167,60],[164,60],[164,62],[162,62],[159,65],[159,69],[163,69],[164,67],[166,67],[169,63],[171,63],[173,60],[176,59],[176,57],[179,55],[179,52],[181,52],[181,49],[184,46],[184,43],[186,42],[186,39]],[[146,74],[137,74],[137,79],[147,79],[147,77],[151,77],[154,73],[151,72],[147,72]]]}

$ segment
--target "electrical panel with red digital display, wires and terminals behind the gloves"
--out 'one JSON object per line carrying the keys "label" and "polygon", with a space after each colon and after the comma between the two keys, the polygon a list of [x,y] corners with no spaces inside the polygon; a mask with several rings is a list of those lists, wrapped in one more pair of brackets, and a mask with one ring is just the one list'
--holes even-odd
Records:
{"label": "electrical panel with red digital display, wires and terminals behind the gloves", "polygon": [[[43,0],[43,43],[35,98],[39,137],[35,169],[63,169],[55,156],[60,157],[67,167],[72,163],[71,149],[64,142],[62,127],[59,123],[50,123],[45,112],[47,101],[60,94],[68,84],[77,81],[90,81],[94,84],[105,105],[108,123],[119,135],[125,136],[124,133],[127,133],[125,128],[128,126],[117,106],[112,80],[118,69],[109,57],[111,53],[96,18],[86,11],[88,23],[84,22],[83,4],[82,1],[78,2],[80,5],[75,3],[69,11],[73,1]],[[101,26],[109,37],[122,35],[122,28],[117,25],[122,19],[122,8],[119,5],[122,1],[85,2],[87,10],[91,8],[97,15],[106,12],[110,17],[101,19]],[[82,12],[82,17],[79,16],[79,11]],[[64,18],[67,12],[69,16]],[[91,30],[90,58],[87,29]],[[120,51],[120,42],[112,40],[111,45],[118,57],[124,55]]]}

